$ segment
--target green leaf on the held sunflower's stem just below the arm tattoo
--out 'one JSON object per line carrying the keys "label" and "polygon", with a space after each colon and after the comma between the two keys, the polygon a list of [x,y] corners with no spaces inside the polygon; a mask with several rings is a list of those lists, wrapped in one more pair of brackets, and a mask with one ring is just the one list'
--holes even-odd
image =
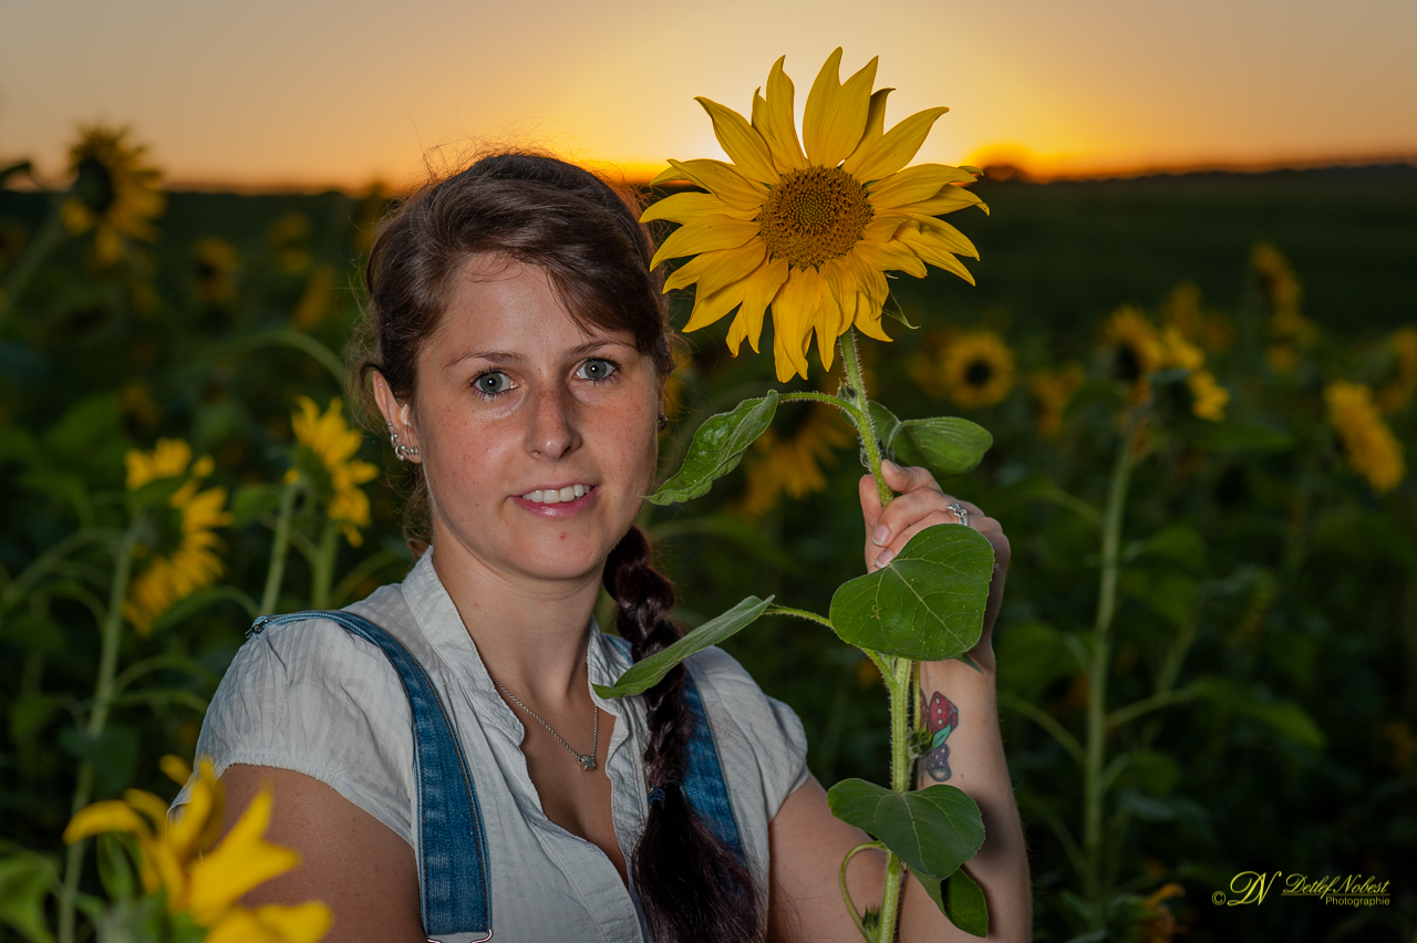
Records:
{"label": "green leaf on the held sunflower's stem just below the arm tattoo", "polygon": [[931,786],[897,793],[847,779],[826,793],[832,814],[894,851],[917,875],[951,875],[983,844],[979,806],[961,789]]}

